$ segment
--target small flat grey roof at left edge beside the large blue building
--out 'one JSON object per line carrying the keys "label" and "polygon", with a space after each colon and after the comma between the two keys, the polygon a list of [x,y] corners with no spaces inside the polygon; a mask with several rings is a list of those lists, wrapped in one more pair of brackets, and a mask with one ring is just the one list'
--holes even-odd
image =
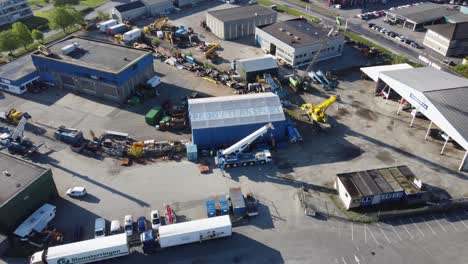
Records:
{"label": "small flat grey roof at left edge beside the large blue building", "polygon": [[15,81],[36,71],[31,55],[24,55],[12,62],[0,66],[0,78]]}

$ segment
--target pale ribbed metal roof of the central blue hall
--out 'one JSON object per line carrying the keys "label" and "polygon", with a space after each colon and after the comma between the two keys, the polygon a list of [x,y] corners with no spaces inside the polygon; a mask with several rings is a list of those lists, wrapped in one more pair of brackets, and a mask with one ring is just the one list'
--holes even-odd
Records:
{"label": "pale ribbed metal roof of the central blue hall", "polygon": [[192,129],[240,126],[286,120],[273,93],[189,99]]}

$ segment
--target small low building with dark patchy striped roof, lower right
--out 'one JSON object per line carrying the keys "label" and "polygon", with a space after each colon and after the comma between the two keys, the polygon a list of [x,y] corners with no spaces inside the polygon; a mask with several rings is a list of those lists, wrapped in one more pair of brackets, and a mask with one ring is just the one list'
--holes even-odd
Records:
{"label": "small low building with dark patchy striped roof, lower right", "polygon": [[428,193],[407,166],[398,166],[336,176],[335,187],[346,209],[390,203],[417,204]]}

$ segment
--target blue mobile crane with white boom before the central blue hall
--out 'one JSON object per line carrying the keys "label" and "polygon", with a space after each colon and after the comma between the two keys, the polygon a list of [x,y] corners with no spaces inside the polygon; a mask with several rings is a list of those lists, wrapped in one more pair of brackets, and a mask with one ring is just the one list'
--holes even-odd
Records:
{"label": "blue mobile crane with white boom before the central blue hall", "polygon": [[227,149],[219,150],[217,153],[217,164],[224,170],[224,168],[248,166],[257,164],[266,164],[271,161],[271,153],[268,149],[256,151],[252,153],[244,153],[252,142],[257,138],[263,136],[270,129],[275,129],[272,123],[268,123],[252,134],[241,139],[239,142],[230,146]]}

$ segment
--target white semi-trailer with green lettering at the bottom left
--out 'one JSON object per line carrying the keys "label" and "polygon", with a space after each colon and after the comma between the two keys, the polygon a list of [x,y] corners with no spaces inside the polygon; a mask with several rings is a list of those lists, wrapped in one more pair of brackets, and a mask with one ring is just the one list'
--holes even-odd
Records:
{"label": "white semi-trailer with green lettering at the bottom left", "polygon": [[127,234],[118,234],[70,243],[36,252],[31,264],[91,263],[129,254]]}

